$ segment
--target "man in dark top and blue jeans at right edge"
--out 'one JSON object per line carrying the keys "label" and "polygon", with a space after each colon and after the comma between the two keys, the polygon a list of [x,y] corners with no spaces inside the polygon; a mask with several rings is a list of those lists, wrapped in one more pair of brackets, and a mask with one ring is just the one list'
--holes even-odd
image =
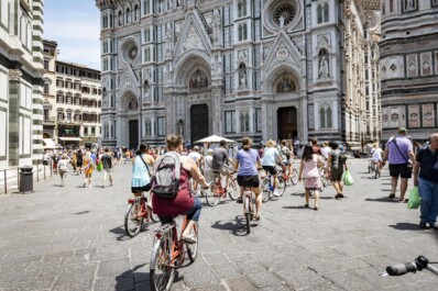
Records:
{"label": "man in dark top and blue jeans at right edge", "polygon": [[419,227],[426,223],[438,230],[438,133],[429,138],[429,146],[420,148],[414,166],[414,186],[418,186],[421,198]]}

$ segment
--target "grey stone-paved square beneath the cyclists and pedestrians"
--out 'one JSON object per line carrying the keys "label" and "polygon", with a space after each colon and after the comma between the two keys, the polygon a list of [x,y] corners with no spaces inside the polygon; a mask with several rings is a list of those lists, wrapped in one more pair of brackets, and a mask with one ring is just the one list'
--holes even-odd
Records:
{"label": "grey stone-paved square beneath the cyclists and pedestrians", "polygon": [[[178,270],[173,290],[437,290],[428,271],[377,276],[418,255],[438,260],[438,232],[420,231],[418,210],[390,201],[387,169],[371,179],[366,163],[349,160],[354,186],[341,201],[326,188],[319,211],[304,208],[302,183],[288,186],[263,204],[248,236],[240,204],[204,204],[200,253]],[[64,188],[54,178],[35,193],[1,195],[0,290],[149,290],[156,225],[124,235],[130,171],[117,166],[112,188],[100,188],[96,172],[84,189],[69,172]]]}

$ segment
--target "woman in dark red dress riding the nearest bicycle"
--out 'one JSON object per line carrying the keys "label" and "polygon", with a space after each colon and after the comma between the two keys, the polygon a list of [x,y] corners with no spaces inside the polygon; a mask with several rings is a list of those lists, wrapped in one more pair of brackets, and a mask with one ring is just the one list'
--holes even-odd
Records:
{"label": "woman in dark red dress riding the nearest bicycle", "polygon": [[[166,145],[167,152],[176,152],[177,154],[183,152],[183,139],[179,135],[168,135],[166,137]],[[187,215],[187,226],[183,232],[182,238],[187,243],[196,243],[196,238],[189,235],[189,231],[199,221],[202,204],[198,198],[191,194],[189,180],[191,177],[202,188],[208,188],[209,184],[204,179],[193,158],[179,156],[179,161],[182,167],[178,193],[174,199],[161,198],[154,194],[152,197],[153,212],[158,215],[162,224],[171,223],[174,216]]]}

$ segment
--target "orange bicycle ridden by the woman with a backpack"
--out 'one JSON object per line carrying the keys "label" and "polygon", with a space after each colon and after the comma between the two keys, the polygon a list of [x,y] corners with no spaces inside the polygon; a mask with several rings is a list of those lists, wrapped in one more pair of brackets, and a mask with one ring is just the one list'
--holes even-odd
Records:
{"label": "orange bicycle ridden by the woman with a backpack", "polygon": [[151,290],[171,290],[175,280],[176,268],[183,266],[186,254],[190,262],[194,262],[198,254],[198,224],[195,223],[189,234],[195,236],[194,244],[180,239],[183,231],[187,226],[187,216],[184,216],[183,227],[178,238],[175,217],[155,230],[154,246],[150,262]]}

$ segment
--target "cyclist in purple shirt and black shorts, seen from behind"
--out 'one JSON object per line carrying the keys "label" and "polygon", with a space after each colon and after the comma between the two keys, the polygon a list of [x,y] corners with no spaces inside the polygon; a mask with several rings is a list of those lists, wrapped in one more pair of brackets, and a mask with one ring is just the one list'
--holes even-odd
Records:
{"label": "cyclist in purple shirt and black shorts, seen from behind", "polygon": [[251,148],[252,141],[250,137],[242,138],[243,148],[238,152],[234,158],[234,171],[238,171],[238,184],[240,186],[240,195],[238,203],[243,203],[243,187],[251,187],[255,194],[255,220],[260,220],[262,210],[262,195],[260,194],[260,180],[258,169],[261,168],[260,156],[258,150]]}

